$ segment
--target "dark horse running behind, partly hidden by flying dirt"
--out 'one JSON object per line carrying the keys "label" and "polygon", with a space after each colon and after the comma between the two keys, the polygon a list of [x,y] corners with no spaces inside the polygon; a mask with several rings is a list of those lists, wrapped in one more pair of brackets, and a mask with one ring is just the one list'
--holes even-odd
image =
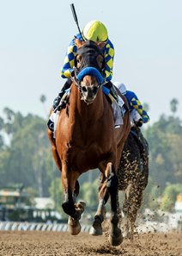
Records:
{"label": "dark horse running behind, partly hidden by flying dirt", "polygon": [[[142,148],[141,148],[142,147]],[[118,190],[124,191],[121,224],[124,237],[133,239],[137,212],[143,201],[143,190],[149,178],[149,146],[137,126],[130,130],[124,144],[121,161],[118,166]],[[119,207],[118,201],[118,207]],[[121,208],[119,207],[118,212]]]}

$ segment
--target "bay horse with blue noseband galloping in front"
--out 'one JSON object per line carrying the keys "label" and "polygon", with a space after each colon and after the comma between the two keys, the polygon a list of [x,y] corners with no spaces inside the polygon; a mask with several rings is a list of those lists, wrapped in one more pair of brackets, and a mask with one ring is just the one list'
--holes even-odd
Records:
{"label": "bay horse with blue noseband galloping in front", "polygon": [[[105,57],[103,43],[75,39],[77,53],[75,72],[72,74],[70,98],[59,117],[55,138],[48,136],[52,144],[53,158],[62,175],[64,198],[62,207],[69,215],[70,234],[79,234],[85,204],[76,203],[79,194],[78,178],[83,172],[99,168],[103,174],[99,188],[99,207],[94,216],[94,235],[100,234],[104,204],[111,198],[112,246],[118,246],[123,236],[118,228],[118,177],[117,169],[121,153],[130,131],[129,111],[124,115],[120,128],[114,128],[112,105],[101,90],[104,83]],[[124,99],[124,103],[127,102]],[[92,172],[92,171],[90,171]]]}

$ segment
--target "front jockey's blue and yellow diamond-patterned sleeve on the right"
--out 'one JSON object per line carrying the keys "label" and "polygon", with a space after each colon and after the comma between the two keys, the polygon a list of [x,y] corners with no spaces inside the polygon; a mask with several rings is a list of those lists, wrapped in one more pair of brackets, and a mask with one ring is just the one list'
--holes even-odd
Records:
{"label": "front jockey's blue and yellow diamond-patterned sleeve on the right", "polygon": [[106,60],[106,81],[112,80],[112,67],[113,67],[113,59],[114,59],[114,47],[110,40],[107,41],[105,52],[104,52],[105,60]]}

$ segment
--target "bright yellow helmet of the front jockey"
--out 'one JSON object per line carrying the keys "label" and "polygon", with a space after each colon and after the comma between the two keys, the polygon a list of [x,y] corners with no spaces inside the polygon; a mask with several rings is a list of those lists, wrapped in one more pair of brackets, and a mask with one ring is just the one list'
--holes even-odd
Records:
{"label": "bright yellow helmet of the front jockey", "polygon": [[82,36],[84,40],[102,41],[108,40],[108,33],[106,26],[100,21],[88,22],[85,28],[82,29]]}

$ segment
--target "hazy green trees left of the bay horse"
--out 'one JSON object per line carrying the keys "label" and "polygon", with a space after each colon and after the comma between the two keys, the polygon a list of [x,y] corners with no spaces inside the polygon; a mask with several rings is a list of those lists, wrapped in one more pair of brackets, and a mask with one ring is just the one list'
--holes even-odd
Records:
{"label": "hazy green trees left of the bay horse", "polygon": [[4,122],[3,132],[9,134],[10,145],[6,147],[6,153],[1,152],[1,155],[8,155],[8,159],[4,158],[0,164],[2,182],[32,186],[39,197],[47,196],[51,184],[49,172],[52,171],[48,169],[47,159],[52,162],[52,158],[45,120],[30,114],[22,116],[10,109],[5,112],[9,117]]}

